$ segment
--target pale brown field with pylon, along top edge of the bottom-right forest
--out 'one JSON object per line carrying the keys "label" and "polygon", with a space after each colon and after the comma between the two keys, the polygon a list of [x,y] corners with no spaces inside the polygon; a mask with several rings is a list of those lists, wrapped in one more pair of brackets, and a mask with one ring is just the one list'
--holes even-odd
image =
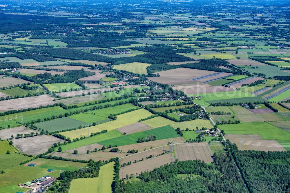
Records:
{"label": "pale brown field with pylon, along top edge of the bottom-right forest", "polygon": [[[240,148],[240,139],[242,139],[242,150],[256,150],[256,151],[286,151],[282,145],[276,140],[264,140],[264,139],[249,139],[251,135],[237,135],[226,134],[226,139],[229,139],[231,143],[235,143]],[[252,135],[252,138],[257,135]],[[259,135],[258,135],[259,136]],[[237,139],[238,138],[238,139]]]}

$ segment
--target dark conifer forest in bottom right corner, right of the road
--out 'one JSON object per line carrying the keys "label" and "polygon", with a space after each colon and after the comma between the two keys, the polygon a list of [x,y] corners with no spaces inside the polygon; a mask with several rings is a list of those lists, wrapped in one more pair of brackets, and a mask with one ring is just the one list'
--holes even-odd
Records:
{"label": "dark conifer forest in bottom right corner, right of the road", "polygon": [[234,150],[251,193],[290,192],[290,152]]}

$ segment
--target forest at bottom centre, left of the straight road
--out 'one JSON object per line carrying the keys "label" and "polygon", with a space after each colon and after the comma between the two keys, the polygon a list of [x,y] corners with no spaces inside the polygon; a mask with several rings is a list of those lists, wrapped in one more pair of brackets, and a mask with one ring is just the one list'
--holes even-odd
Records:
{"label": "forest at bottom centre, left of the straight road", "polygon": [[214,164],[200,160],[166,164],[137,178],[140,181],[122,181],[120,192],[248,192],[231,155],[215,155]]}

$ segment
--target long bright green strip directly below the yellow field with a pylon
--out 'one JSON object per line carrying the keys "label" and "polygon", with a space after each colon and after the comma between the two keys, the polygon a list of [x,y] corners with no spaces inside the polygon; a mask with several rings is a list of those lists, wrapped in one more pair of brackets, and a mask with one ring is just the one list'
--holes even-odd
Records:
{"label": "long bright green strip directly below the yellow field with a pylon", "polygon": [[82,139],[73,143],[62,145],[61,148],[63,151],[66,151],[66,150],[70,150],[74,148],[79,148],[84,145],[90,145],[93,143],[99,143],[100,141],[117,138],[119,136],[122,136],[122,134],[118,130],[113,130],[113,131],[95,135],[86,139]]}

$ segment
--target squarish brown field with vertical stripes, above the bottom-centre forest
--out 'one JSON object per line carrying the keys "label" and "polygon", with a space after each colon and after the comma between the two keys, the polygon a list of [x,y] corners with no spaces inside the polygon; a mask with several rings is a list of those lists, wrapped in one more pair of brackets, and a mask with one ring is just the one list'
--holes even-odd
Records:
{"label": "squarish brown field with vertical stripes, above the bottom-centre forest", "polygon": [[183,143],[174,145],[174,152],[179,161],[202,160],[213,162],[213,152],[207,143]]}

